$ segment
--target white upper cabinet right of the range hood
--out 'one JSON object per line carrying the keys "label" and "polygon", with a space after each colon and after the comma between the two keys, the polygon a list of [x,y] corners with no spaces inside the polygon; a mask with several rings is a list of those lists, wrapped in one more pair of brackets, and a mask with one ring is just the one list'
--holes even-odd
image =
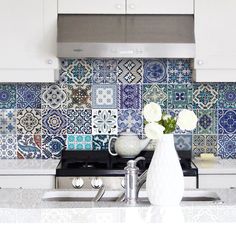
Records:
{"label": "white upper cabinet right of the range hood", "polygon": [[196,81],[236,81],[236,1],[195,0]]}

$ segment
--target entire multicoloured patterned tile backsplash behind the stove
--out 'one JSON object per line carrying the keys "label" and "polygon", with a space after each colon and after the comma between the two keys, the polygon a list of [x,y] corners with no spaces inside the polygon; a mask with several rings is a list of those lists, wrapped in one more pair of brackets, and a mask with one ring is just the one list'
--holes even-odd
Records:
{"label": "entire multicoloured patterned tile backsplash behind the stove", "polygon": [[[193,83],[190,59],[62,60],[55,84],[0,84],[0,158],[60,158],[107,149],[126,129],[143,134],[142,108],[193,109],[193,132],[175,132],[177,149],[236,158],[236,84]],[[152,143],[150,146],[153,146]]]}

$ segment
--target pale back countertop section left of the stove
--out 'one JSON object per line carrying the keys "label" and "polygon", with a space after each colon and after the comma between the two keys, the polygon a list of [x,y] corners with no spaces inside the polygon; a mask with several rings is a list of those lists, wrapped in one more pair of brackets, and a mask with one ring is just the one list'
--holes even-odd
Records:
{"label": "pale back countertop section left of the stove", "polygon": [[1,160],[0,175],[55,175],[59,160]]}

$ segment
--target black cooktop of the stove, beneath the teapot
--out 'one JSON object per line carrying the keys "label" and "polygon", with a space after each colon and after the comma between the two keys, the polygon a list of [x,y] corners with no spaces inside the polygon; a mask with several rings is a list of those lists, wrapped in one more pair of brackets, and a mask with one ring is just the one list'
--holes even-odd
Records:
{"label": "black cooktop of the stove, beneath the teapot", "polygon": [[[191,151],[178,151],[184,176],[197,176],[197,167],[191,161]],[[140,174],[151,162],[153,151],[142,151],[145,157],[137,166]],[[62,158],[56,169],[56,176],[123,176],[128,158],[111,156],[107,151],[62,151]]]}

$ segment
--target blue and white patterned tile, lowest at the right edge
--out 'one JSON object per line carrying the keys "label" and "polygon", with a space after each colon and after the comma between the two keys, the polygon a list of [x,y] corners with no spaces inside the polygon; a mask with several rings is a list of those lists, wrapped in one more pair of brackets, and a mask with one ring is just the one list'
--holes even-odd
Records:
{"label": "blue and white patterned tile, lowest at the right edge", "polygon": [[221,158],[236,158],[236,135],[219,135],[218,156]]}

